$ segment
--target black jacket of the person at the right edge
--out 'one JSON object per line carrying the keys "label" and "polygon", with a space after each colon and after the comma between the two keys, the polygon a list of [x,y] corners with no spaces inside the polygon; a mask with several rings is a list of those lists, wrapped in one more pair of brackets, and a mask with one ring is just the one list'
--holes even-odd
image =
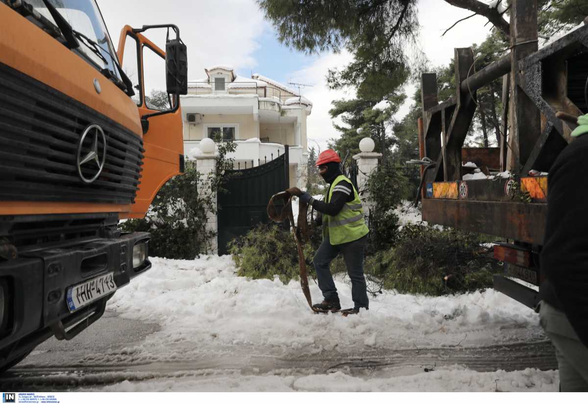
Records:
{"label": "black jacket of the person at the right edge", "polygon": [[549,170],[540,296],[566,313],[588,346],[588,135],[574,139]]}

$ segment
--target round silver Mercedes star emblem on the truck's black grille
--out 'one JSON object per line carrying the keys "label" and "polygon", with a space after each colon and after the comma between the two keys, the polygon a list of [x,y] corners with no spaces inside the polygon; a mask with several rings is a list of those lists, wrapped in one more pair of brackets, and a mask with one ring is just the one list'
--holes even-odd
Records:
{"label": "round silver Mercedes star emblem on the truck's black grille", "polygon": [[83,131],[82,137],[79,139],[77,159],[79,178],[85,183],[93,182],[102,172],[105,161],[106,136],[104,131],[98,125],[90,125]]}

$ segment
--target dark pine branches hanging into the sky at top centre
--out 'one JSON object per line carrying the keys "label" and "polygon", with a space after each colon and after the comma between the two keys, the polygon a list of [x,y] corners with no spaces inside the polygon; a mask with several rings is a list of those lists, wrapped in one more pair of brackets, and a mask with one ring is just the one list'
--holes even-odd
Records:
{"label": "dark pine branches hanging into the sky at top centre", "polygon": [[[409,73],[406,49],[418,49],[416,0],[258,0],[282,44],[309,54],[346,48],[354,60],[328,75],[331,88],[357,86],[378,101],[386,82]],[[417,54],[417,52],[415,52]],[[375,85],[374,85],[375,84]],[[383,85],[383,92],[379,93]]]}

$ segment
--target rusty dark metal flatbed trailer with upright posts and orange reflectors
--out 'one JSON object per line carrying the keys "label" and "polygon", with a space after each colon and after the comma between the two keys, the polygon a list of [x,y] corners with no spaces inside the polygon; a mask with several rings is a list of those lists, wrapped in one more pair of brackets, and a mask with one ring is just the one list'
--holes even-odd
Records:
{"label": "rusty dark metal flatbed trailer with upright posts and orange reflectors", "polygon": [[[511,279],[539,287],[544,279],[539,253],[549,178],[529,172],[549,172],[572,141],[577,125],[570,116],[588,113],[588,24],[539,49],[537,2],[515,0],[510,14],[506,56],[472,74],[472,49],[455,49],[459,85],[453,98],[439,103],[436,75],[422,75],[420,156],[433,161],[423,169],[422,215],[429,223],[504,238],[507,242],[495,246],[495,258],[505,262],[505,273],[494,278],[495,289],[534,308],[536,289]],[[462,148],[477,107],[476,91],[501,76],[502,139],[492,168],[509,175],[463,181]],[[496,152],[481,148],[477,156]]]}

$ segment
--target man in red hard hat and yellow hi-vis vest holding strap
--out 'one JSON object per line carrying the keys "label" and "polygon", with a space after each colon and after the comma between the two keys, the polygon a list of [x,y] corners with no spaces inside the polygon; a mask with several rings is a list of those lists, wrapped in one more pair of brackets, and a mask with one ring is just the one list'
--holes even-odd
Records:
{"label": "man in red hard hat and yellow hi-vis vest holding strap", "polygon": [[359,309],[368,310],[368,292],[363,275],[363,251],[369,229],[363,219],[362,203],[358,191],[340,169],[341,159],[332,149],[319,154],[316,166],[319,174],[329,184],[323,201],[314,199],[308,192],[300,195],[300,201],[312,205],[321,215],[323,241],[316,251],[313,263],[323,302],[313,305],[318,312],[335,312],[341,309],[339,295],[330,263],[339,253],[343,254],[345,266],[351,279],[353,308],[340,310],[343,314],[357,314]]}

